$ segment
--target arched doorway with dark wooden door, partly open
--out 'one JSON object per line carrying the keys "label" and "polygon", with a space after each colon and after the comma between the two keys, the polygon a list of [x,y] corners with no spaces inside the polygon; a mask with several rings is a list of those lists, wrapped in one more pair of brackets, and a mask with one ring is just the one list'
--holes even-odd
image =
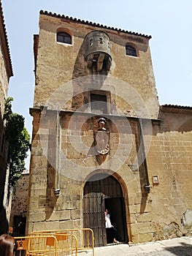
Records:
{"label": "arched doorway with dark wooden door, partly open", "polygon": [[97,173],[88,179],[83,191],[83,225],[93,230],[94,246],[107,245],[105,208],[110,211],[112,225],[118,230],[117,240],[127,242],[125,203],[120,184],[107,173]]}

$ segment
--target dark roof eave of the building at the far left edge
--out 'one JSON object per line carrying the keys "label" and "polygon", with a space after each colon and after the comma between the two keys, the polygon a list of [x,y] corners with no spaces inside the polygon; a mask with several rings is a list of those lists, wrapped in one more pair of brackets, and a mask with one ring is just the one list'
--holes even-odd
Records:
{"label": "dark roof eave of the building at the far left edge", "polygon": [[1,42],[2,46],[4,48],[4,54],[5,58],[7,61],[7,67],[9,67],[9,77],[13,75],[12,73],[12,61],[11,61],[11,56],[9,52],[9,44],[8,44],[8,39],[7,39],[7,31],[5,29],[5,24],[4,24],[4,14],[3,14],[3,8],[0,0],[0,25],[1,25]]}

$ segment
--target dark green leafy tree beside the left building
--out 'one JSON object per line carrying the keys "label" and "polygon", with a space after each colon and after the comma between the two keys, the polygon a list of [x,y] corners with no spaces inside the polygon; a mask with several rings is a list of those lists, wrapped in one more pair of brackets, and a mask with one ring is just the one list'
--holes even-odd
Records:
{"label": "dark green leafy tree beside the left building", "polygon": [[9,142],[9,186],[20,178],[25,170],[25,159],[30,148],[30,135],[24,127],[25,118],[18,113],[12,113],[12,97],[5,102],[4,121],[5,136]]}

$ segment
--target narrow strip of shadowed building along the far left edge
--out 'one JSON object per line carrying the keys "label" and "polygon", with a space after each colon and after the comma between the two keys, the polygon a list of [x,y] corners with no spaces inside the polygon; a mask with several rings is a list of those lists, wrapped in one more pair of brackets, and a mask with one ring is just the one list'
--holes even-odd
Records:
{"label": "narrow strip of shadowed building along the far left edge", "polygon": [[8,177],[9,162],[7,162],[8,143],[4,134],[4,106],[7,99],[9,78],[12,77],[12,63],[9,53],[7,31],[4,23],[4,13],[0,1],[0,233],[4,232],[4,223],[9,218]]}

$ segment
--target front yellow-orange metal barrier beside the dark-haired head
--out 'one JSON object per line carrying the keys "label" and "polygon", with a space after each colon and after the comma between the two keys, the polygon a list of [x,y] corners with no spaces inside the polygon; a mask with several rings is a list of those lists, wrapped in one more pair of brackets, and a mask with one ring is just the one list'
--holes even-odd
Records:
{"label": "front yellow-orange metal barrier beside the dark-haired head", "polygon": [[77,256],[77,238],[74,235],[41,233],[15,239],[18,243],[15,256]]}

